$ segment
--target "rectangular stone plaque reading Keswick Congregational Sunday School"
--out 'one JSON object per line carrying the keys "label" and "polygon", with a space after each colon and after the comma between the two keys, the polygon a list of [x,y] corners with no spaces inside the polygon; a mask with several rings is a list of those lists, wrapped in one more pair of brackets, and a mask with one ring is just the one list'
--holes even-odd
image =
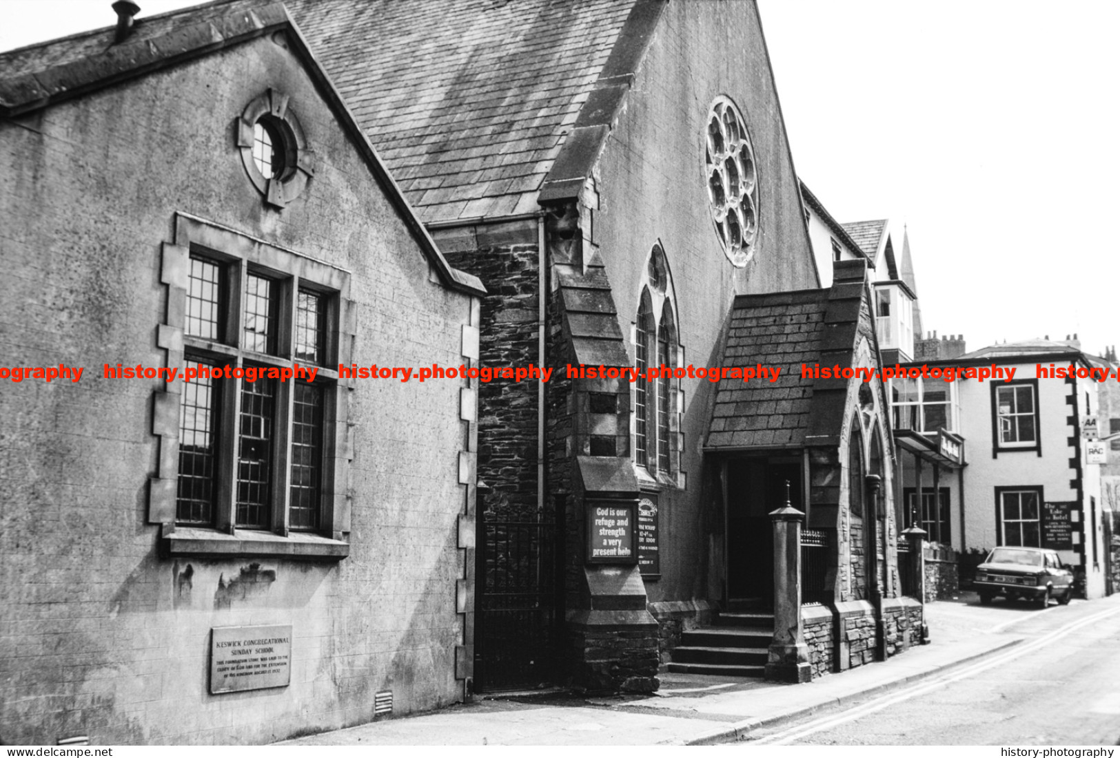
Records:
{"label": "rectangular stone plaque reading Keswick Congregational Sunday School", "polygon": [[211,694],[288,686],[291,624],[211,629]]}

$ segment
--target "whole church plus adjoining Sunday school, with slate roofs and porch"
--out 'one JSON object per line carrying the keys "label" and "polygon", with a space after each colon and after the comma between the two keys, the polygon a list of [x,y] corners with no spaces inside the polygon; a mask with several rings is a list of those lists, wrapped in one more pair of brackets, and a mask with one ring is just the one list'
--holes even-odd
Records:
{"label": "whole church plus adjoining Sunday school, with slate roofs and porch", "polygon": [[87,372],[0,394],[0,739],[921,641],[868,262],[818,269],[754,2],[233,0],[0,63],[3,342]]}

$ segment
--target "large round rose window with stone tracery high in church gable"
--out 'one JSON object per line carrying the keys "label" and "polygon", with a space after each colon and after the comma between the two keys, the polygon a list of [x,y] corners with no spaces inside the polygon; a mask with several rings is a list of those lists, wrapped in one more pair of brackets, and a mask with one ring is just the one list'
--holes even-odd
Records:
{"label": "large round rose window with stone tracery high in church gable", "polygon": [[704,131],[704,173],[716,234],[727,258],[746,266],[758,234],[758,183],[747,126],[735,103],[720,96]]}

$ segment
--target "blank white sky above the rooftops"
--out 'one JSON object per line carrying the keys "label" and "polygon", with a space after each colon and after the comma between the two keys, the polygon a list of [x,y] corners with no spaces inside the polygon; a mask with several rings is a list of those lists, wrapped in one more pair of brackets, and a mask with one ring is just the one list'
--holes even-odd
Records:
{"label": "blank white sky above the rooftops", "polygon": [[[6,0],[0,49],[111,26],[110,4]],[[801,178],[841,222],[908,225],[927,331],[1120,342],[1120,2],[759,6]]]}

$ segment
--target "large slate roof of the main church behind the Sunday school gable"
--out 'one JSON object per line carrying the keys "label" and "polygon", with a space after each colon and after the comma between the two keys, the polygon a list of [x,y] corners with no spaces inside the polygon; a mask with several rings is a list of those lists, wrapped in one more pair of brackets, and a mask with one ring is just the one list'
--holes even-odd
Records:
{"label": "large slate roof of the main church behind the Sunday school gable", "polygon": [[536,192],[636,0],[290,0],[426,221],[539,210]]}

